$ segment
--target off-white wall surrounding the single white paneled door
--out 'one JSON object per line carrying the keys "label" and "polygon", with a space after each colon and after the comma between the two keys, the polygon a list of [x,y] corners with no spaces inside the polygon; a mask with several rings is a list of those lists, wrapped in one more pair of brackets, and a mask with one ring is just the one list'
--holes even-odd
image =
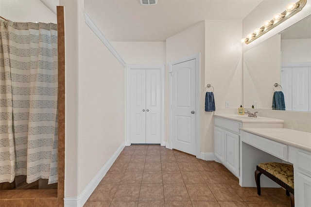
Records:
{"label": "off-white wall surrounding the single white paneled door", "polygon": [[[196,53],[201,53],[201,114],[204,113],[204,77],[205,77],[205,22],[202,21],[183,32],[179,32],[174,36],[166,39],[166,65],[168,71],[168,64],[171,61],[178,60],[191,56]],[[168,72],[166,72],[168,74]],[[166,80],[166,139],[169,142],[170,139],[170,123],[169,123],[169,84],[168,79]],[[201,116],[201,129],[204,127],[204,120]],[[201,130],[202,131],[202,130]],[[202,132],[201,132],[201,143],[202,143]],[[202,147],[201,147],[202,151]]]}

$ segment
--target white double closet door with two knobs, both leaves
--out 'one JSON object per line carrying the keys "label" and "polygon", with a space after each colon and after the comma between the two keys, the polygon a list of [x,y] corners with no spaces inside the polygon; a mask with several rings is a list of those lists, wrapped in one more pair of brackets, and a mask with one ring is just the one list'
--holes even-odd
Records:
{"label": "white double closet door with two knobs, both leaves", "polygon": [[130,70],[130,142],[161,142],[161,70]]}

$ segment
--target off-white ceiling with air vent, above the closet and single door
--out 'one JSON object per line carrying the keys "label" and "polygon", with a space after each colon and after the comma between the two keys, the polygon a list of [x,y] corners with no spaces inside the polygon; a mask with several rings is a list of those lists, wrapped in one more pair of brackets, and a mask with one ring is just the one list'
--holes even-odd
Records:
{"label": "off-white ceiling with air vent, above the closet and single door", "polygon": [[[203,20],[242,20],[262,0],[84,0],[109,41],[165,41]],[[208,30],[208,28],[207,28]]]}

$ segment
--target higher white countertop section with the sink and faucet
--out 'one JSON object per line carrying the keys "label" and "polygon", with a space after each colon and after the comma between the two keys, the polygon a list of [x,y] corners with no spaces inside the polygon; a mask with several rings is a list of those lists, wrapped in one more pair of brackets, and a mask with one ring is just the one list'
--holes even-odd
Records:
{"label": "higher white countertop section with the sink and faucet", "polygon": [[233,121],[245,122],[245,123],[284,123],[284,120],[267,118],[267,117],[248,117],[248,115],[238,115],[238,114],[214,114],[215,117],[230,119]]}

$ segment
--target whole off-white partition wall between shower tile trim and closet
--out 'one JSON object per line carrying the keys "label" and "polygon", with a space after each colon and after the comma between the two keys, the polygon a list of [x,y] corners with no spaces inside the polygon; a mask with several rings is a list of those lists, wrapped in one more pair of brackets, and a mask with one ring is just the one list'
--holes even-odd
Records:
{"label": "whole off-white partition wall between shower tile trim and closet", "polygon": [[79,197],[124,144],[124,68],[84,22],[83,1],[65,6],[65,199]]}

